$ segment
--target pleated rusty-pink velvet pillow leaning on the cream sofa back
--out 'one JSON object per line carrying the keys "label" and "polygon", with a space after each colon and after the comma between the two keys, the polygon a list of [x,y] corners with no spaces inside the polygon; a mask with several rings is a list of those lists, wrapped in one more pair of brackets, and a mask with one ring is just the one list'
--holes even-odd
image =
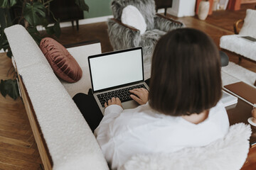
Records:
{"label": "pleated rusty-pink velvet pillow leaning on the cream sofa back", "polygon": [[43,38],[40,42],[43,55],[46,56],[53,72],[65,81],[74,83],[81,79],[82,69],[78,62],[63,45],[53,38]]}

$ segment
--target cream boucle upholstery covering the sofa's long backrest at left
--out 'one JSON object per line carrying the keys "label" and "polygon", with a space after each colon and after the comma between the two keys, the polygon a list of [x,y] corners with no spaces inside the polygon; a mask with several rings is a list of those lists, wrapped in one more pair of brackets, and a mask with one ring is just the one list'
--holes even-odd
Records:
{"label": "cream boucle upholstery covering the sofa's long backrest at left", "polygon": [[20,25],[4,31],[46,140],[53,169],[109,169],[95,136],[33,38]]}

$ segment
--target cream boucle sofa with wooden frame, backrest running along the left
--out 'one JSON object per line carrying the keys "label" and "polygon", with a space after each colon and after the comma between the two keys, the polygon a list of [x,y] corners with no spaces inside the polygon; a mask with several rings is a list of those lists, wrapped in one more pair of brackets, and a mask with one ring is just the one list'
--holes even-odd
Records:
{"label": "cream boucle sofa with wooden frame, backrest running along the left", "polygon": [[83,71],[80,81],[58,79],[23,26],[5,29],[13,52],[21,97],[45,169],[109,169],[95,136],[72,100],[87,94],[87,56],[101,53],[100,42],[69,48]]}

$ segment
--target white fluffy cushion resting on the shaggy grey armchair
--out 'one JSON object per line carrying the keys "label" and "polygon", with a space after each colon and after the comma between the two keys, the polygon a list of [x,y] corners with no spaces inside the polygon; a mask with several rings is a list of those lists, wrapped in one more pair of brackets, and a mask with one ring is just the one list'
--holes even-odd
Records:
{"label": "white fluffy cushion resting on the shaggy grey armchair", "polygon": [[146,22],[142,13],[140,13],[135,6],[129,5],[123,9],[121,21],[122,23],[139,30],[141,35],[146,31]]}

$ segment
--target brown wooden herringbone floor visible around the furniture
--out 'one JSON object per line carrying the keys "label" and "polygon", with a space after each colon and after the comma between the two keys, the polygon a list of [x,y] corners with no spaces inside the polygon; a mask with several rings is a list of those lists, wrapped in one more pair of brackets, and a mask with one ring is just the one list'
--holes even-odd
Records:
{"label": "brown wooden herringbone floor visible around the furniture", "polygon": [[[219,45],[222,35],[233,34],[233,22],[245,18],[246,8],[255,8],[255,5],[242,5],[241,10],[235,12],[213,12],[213,15],[208,16],[206,21],[200,21],[196,17],[177,19],[185,23],[187,27],[197,28],[208,33],[216,45]],[[59,41],[63,44],[97,39],[101,42],[102,52],[112,51],[106,23],[80,26],[80,30],[75,28],[62,28],[61,30],[62,35],[60,35]],[[230,61],[238,63],[238,57],[229,57]],[[241,65],[256,72],[256,64],[242,60]],[[0,79],[13,77],[13,74],[10,74],[10,68],[11,60],[4,53],[0,53]],[[9,96],[4,98],[0,95],[0,169],[43,169],[41,164],[21,98],[14,101]],[[242,169],[256,169],[256,147],[250,149],[249,157]]]}

